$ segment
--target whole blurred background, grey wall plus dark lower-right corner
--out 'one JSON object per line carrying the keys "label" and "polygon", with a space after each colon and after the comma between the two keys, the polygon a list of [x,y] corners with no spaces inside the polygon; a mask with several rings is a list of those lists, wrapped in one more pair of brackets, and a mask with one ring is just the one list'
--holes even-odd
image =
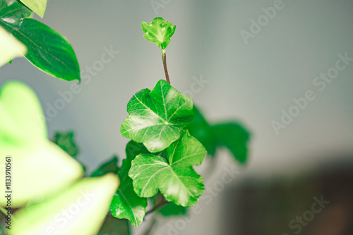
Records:
{"label": "whole blurred background, grey wall plus dark lower-right corner", "polygon": [[353,1],[52,0],[42,22],[76,51],[79,91],[24,58],[1,68],[0,85],[29,84],[49,134],[75,131],[88,171],[124,158],[126,103],[164,79],[160,49],[140,29],[156,16],[177,25],[173,86],[209,120],[239,120],[251,142],[245,167],[227,151],[212,177],[201,167],[207,198],[155,234],[352,234]]}

